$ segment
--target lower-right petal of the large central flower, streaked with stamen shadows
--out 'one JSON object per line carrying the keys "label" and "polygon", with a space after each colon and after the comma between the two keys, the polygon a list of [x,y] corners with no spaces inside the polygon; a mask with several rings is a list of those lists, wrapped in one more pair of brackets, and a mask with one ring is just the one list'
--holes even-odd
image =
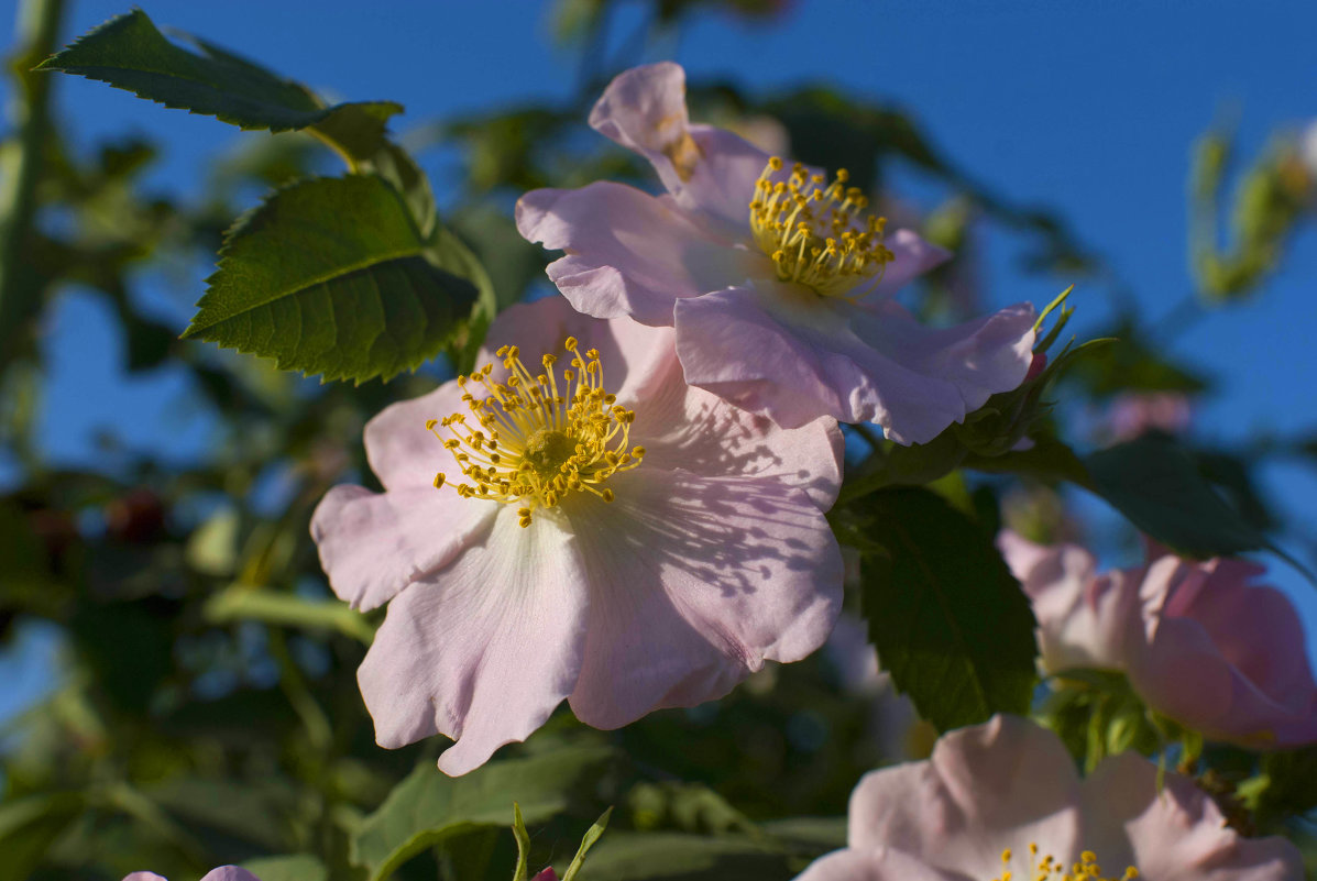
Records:
{"label": "lower-right petal of the large central flower, streaked with stamen shadows", "polygon": [[803,493],[774,479],[645,466],[611,506],[572,511],[590,620],[572,708],[616,728],[722,697],[765,660],[819,648],[842,601],[842,557]]}

